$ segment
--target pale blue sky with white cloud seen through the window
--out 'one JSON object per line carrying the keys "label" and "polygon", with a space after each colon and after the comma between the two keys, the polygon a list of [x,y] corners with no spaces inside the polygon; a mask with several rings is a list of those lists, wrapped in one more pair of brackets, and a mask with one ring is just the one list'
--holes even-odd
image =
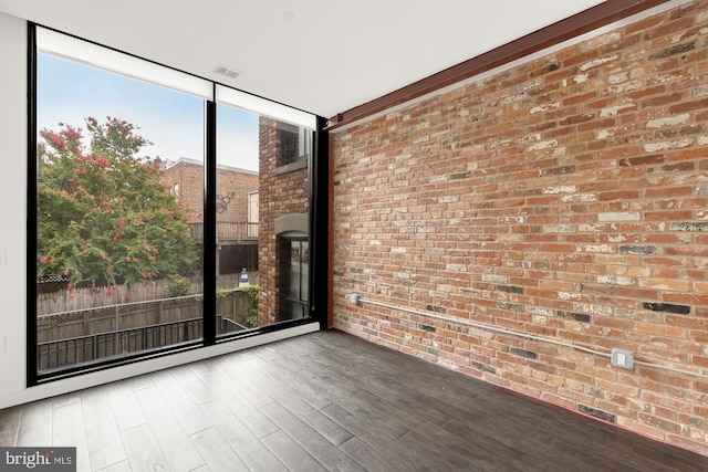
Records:
{"label": "pale blue sky with white cloud seen through the window", "polygon": [[[139,127],[153,145],[147,156],[204,158],[204,99],[46,54],[38,60],[38,129],[107,116]],[[228,106],[217,109],[217,160],[258,170],[258,115]]]}

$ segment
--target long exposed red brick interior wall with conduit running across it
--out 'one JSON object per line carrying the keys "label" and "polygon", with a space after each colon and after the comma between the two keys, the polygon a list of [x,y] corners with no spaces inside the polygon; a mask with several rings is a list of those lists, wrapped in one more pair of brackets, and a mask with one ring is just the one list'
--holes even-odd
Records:
{"label": "long exposed red brick interior wall with conduit running across it", "polygon": [[332,134],[334,323],[708,454],[708,2]]}

